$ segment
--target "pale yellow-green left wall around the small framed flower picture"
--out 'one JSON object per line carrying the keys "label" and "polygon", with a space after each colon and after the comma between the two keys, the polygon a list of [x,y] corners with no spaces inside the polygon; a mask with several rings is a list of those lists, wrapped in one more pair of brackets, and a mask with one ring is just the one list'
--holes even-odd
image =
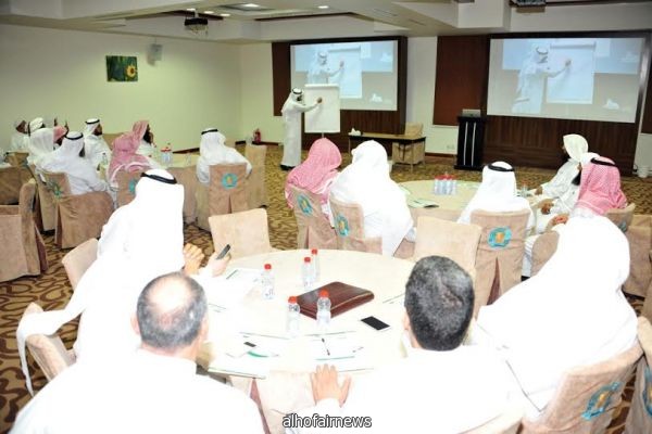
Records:
{"label": "pale yellow-green left wall around the small framed flower picture", "polygon": [[[196,148],[206,126],[239,138],[240,48],[160,38],[163,60],[150,65],[152,42],[150,37],[0,25],[0,137],[8,140],[14,118],[58,115],[71,129],[100,117],[106,132],[146,118],[155,142],[177,150]],[[138,81],[108,82],[106,54],[138,56]]]}

